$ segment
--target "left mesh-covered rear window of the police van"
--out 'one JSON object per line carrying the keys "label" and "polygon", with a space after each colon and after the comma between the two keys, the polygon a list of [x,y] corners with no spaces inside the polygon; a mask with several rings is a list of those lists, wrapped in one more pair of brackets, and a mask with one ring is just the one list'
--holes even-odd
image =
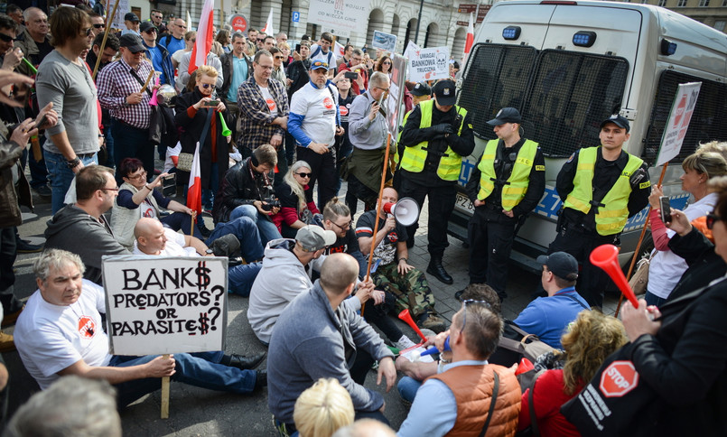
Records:
{"label": "left mesh-covered rear window of the police van", "polygon": [[522,109],[535,61],[534,47],[480,43],[472,48],[459,105],[471,114],[476,135],[495,138],[487,121],[503,107]]}

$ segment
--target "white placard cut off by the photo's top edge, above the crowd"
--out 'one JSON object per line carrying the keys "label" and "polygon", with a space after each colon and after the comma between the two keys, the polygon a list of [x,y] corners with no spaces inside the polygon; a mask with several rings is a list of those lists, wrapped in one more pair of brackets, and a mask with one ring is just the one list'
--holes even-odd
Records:
{"label": "white placard cut off by the photo's top edge, above the crowd", "polygon": [[320,24],[323,31],[333,30],[339,36],[366,33],[368,0],[311,0],[308,23]]}

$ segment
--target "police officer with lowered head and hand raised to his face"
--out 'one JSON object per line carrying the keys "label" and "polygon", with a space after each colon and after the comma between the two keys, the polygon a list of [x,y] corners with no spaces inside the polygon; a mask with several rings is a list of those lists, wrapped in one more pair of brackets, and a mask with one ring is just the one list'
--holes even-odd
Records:
{"label": "police officer with lowered head and hand raised to his face", "polygon": [[[401,132],[405,145],[401,157],[401,197],[411,197],[419,207],[429,196],[429,266],[432,274],[444,284],[452,284],[452,276],[444,270],[442,257],[447,241],[447,222],[454,209],[457,181],[462,156],[474,150],[471,116],[463,107],[454,105],[454,82],[440,80],[433,87],[433,100],[415,107]],[[406,228],[414,244],[418,223]]]}

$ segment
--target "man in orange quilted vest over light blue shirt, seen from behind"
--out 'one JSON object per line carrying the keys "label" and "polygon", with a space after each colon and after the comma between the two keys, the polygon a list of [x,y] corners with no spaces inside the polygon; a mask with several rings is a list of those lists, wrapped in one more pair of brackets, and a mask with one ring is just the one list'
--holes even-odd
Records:
{"label": "man in orange quilted vest over light blue shirt, seen from behind", "polygon": [[[398,436],[477,434],[514,436],[520,414],[520,385],[512,369],[488,364],[498,347],[502,320],[481,302],[465,301],[452,329],[437,336],[443,349],[440,373],[424,382]],[[492,404],[494,402],[494,404]]]}

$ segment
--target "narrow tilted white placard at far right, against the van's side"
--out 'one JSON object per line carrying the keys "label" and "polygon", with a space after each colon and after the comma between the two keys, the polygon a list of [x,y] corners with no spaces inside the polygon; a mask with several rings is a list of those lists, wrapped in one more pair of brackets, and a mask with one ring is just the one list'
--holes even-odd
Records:
{"label": "narrow tilted white placard at far right, against the van's side", "polygon": [[699,98],[700,88],[702,88],[702,82],[681,83],[679,88],[676,88],[669,120],[666,122],[664,136],[661,137],[657,166],[668,163],[682,149],[686,129],[692,120],[696,99]]}

